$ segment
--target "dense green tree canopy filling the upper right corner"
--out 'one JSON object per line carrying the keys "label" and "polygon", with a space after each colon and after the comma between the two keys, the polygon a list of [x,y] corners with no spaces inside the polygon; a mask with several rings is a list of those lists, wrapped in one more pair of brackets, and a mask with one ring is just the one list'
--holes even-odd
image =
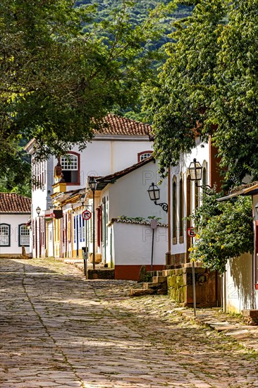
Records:
{"label": "dense green tree canopy filling the upper right corner", "polygon": [[146,85],[161,171],[211,136],[228,182],[258,178],[258,0],[190,1]]}

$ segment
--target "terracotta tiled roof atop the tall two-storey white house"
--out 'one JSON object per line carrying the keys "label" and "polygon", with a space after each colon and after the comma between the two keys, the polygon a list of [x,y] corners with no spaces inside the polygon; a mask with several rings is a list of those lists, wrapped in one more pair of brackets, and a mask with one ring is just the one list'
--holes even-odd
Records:
{"label": "terracotta tiled roof atop the tall two-storey white house", "polygon": [[152,132],[152,127],[149,124],[116,116],[116,114],[108,114],[103,122],[102,128],[96,132],[99,135],[140,135],[150,137]]}

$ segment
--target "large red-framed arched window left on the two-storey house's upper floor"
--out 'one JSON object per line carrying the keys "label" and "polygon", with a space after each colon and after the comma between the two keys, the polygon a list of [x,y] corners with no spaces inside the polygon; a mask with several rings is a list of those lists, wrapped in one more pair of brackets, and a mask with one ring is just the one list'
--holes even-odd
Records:
{"label": "large red-framed arched window left on the two-storey house's upper floor", "polygon": [[80,185],[80,155],[69,152],[67,156],[61,157],[61,166],[66,183]]}

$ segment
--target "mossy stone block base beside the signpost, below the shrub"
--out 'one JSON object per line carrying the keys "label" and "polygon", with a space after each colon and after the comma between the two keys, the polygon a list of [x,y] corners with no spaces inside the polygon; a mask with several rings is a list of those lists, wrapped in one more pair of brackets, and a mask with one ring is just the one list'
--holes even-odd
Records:
{"label": "mossy stone block base beside the signpost, below the shrub", "polygon": [[[182,306],[193,306],[192,264],[168,270],[168,295]],[[219,307],[221,305],[220,277],[216,272],[195,267],[195,293],[197,307]]]}

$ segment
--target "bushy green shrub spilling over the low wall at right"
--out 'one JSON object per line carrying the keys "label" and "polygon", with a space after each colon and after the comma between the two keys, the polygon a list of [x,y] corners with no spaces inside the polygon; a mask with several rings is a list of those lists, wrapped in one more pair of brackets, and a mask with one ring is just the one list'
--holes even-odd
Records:
{"label": "bushy green shrub spilling over the low wall at right", "polygon": [[234,202],[218,202],[218,195],[210,194],[204,195],[202,206],[192,215],[199,238],[190,248],[190,259],[222,274],[228,259],[253,251],[252,200],[238,197]]}

